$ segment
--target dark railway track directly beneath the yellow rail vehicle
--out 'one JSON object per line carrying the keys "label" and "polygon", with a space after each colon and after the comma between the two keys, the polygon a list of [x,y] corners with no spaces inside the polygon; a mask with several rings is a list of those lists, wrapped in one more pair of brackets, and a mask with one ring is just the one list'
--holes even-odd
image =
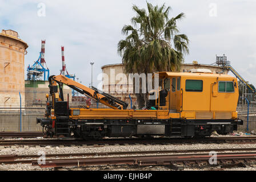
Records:
{"label": "dark railway track directly beneath the yellow rail vehicle", "polygon": [[107,145],[107,144],[183,144],[183,143],[233,143],[255,144],[256,137],[209,137],[203,139],[183,138],[113,138],[95,141],[81,139],[26,139],[26,140],[0,140],[0,146],[82,146],[82,145]]}

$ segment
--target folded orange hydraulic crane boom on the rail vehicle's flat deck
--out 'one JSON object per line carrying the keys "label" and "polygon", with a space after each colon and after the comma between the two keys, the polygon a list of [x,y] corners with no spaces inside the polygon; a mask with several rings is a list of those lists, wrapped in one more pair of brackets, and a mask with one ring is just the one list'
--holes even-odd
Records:
{"label": "folded orange hydraulic crane boom on the rail vehicle's flat deck", "polygon": [[[63,75],[50,76],[49,83],[50,83],[50,94],[56,93],[57,83],[59,84],[59,97],[61,98],[62,101],[64,100],[62,88],[63,88],[63,84],[65,84],[69,86],[71,89],[74,89],[81,94],[85,94],[86,96],[93,98],[97,102],[101,102],[102,104],[109,106],[112,109],[126,109],[128,106],[126,102],[123,102],[118,98],[110,96],[109,94],[104,93],[95,87],[89,88]],[[55,86],[55,89],[54,89],[54,86]]]}

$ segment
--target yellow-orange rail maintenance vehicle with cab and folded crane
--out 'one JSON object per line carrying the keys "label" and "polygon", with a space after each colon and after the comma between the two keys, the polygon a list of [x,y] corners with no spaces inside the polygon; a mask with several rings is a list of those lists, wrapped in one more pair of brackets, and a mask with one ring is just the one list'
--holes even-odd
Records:
{"label": "yellow-orange rail maintenance vehicle with cab and folded crane", "polygon": [[[146,110],[127,104],[97,88],[87,88],[65,76],[51,76],[46,118],[39,118],[49,135],[82,138],[165,135],[209,136],[237,130],[237,78],[213,73],[159,72],[159,89],[150,92]],[[58,86],[59,84],[59,90]],[[71,108],[62,85],[86,94],[110,109]],[[59,91],[59,92],[58,92]],[[151,110],[151,108],[155,110]]]}

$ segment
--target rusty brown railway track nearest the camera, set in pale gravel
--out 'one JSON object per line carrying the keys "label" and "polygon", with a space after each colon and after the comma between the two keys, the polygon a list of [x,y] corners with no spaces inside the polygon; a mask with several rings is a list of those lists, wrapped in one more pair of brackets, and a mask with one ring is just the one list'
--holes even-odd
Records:
{"label": "rusty brown railway track nearest the camera, set in pale gravel", "polygon": [[[211,155],[218,152],[218,164],[249,163],[256,160],[256,148],[222,148],[203,150],[126,151],[77,154],[46,154],[45,163],[38,164],[38,155],[0,155],[1,164],[32,164],[40,167],[70,167],[99,165],[191,165],[209,164]],[[228,151],[228,152],[227,152]],[[193,153],[194,152],[194,153]],[[197,152],[197,153],[195,153]],[[176,154],[175,154],[176,153]],[[183,153],[183,154],[181,154]],[[133,156],[131,156],[133,155]],[[105,157],[102,157],[105,156]]]}

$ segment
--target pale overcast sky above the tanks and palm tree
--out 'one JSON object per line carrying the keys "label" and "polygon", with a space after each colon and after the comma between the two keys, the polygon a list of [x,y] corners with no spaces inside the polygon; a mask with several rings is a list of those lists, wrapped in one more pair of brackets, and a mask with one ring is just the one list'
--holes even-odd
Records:
{"label": "pale overcast sky above the tanks and palm tree", "polygon": [[[148,2],[171,6],[170,17],[185,13],[186,18],[178,22],[180,32],[190,39],[185,63],[211,64],[215,55],[225,53],[240,75],[256,85],[255,0]],[[41,40],[46,39],[50,75],[59,75],[61,46],[65,46],[67,71],[89,85],[91,61],[95,62],[94,82],[103,65],[121,63],[117,44],[124,38],[122,27],[135,15],[133,5],[146,8],[146,1],[0,0],[0,28],[17,31],[29,45],[25,68],[38,59]]]}

